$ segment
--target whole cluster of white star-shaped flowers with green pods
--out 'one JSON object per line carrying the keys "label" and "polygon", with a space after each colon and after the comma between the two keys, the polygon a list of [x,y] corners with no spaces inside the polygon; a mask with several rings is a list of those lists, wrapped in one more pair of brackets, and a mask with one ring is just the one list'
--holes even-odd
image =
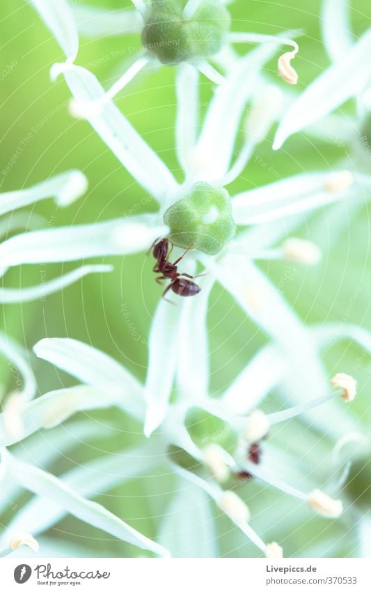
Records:
{"label": "whole cluster of white star-shaped flowers with green pods", "polygon": [[[345,200],[356,203],[356,197],[371,187],[371,176],[362,166],[361,142],[357,144],[354,139],[352,125],[345,121],[343,126],[342,116],[331,114],[345,100],[357,96],[362,105],[358,117],[363,123],[366,120],[370,93],[365,89],[369,80],[365,55],[371,33],[366,31],[356,43],[349,40],[347,47],[343,43],[346,31],[340,31],[341,45],[337,43],[331,33],[332,15],[337,15],[340,29],[347,26],[342,13],[345,8],[343,3],[324,1],[324,43],[333,62],[293,98],[285,83],[269,79],[263,68],[276,47],[291,45],[293,51],[278,59],[278,71],[285,82],[296,84],[297,73],[290,61],[297,54],[297,43],[288,33],[271,37],[231,32],[228,6],[221,0],[133,0],[133,9],[113,14],[85,5],[72,10],[67,0],[33,0],[33,4],[65,53],[65,62],[54,64],[51,74],[53,79],[59,75],[65,78],[72,93],[71,111],[90,122],[134,179],[155,197],[159,209],[94,225],[17,234],[0,245],[2,271],[19,264],[145,252],[157,238],[167,236],[179,257],[182,249],[191,245],[183,260],[191,277],[198,268],[207,273],[198,279],[201,291],[196,297],[177,298],[176,306],[165,300],[157,305],[144,384],[90,345],[46,338],[35,344],[36,356],[70,374],[79,385],[32,400],[35,379],[27,358],[15,344],[1,337],[1,351],[28,382],[22,397],[8,397],[0,415],[0,509],[19,487],[35,494],[1,535],[3,554],[19,545],[38,552],[35,538],[70,513],[159,556],[218,556],[212,518],[212,512],[217,512],[226,515],[247,537],[251,549],[255,545],[267,557],[282,557],[281,540],[272,541],[266,535],[275,522],[272,514],[278,512],[276,508],[287,515],[289,531],[290,524],[292,530],[299,528],[300,520],[307,519],[305,513],[308,517],[316,513],[321,518],[347,519],[348,510],[344,508],[349,500],[342,495],[342,501],[338,496],[352,459],[360,448],[367,450],[368,441],[358,432],[356,417],[347,409],[356,395],[355,379],[342,368],[329,376],[321,351],[347,337],[370,351],[371,337],[345,323],[306,326],[258,262],[319,264],[322,253],[318,246],[292,233],[299,232],[309,213]],[[121,29],[123,33],[140,31],[143,50],[123,77],[104,91],[90,71],[74,63],[79,50],[78,30],[81,35],[99,36],[117,34]],[[258,47],[240,56],[233,50],[235,43],[255,43]],[[181,183],[112,100],[153,61],[176,68],[175,146],[183,172]],[[219,85],[201,123],[199,73]],[[247,115],[246,105],[250,107]],[[343,161],[336,171],[301,172],[231,195],[228,186],[249,165],[256,146],[277,121],[274,149],[304,129],[312,137],[324,138],[324,118],[326,128],[344,129],[345,134],[349,131],[347,141],[359,159],[352,172],[349,162]],[[239,146],[241,129],[244,138]],[[16,195],[0,196],[1,203],[8,204],[1,213],[13,210],[15,203],[24,206],[50,195],[56,195],[58,204],[68,205],[83,189],[81,174],[66,173]],[[109,268],[83,266],[43,287],[24,288],[19,293],[4,288],[0,298],[4,303],[37,298],[94,271]],[[215,284],[230,294],[266,340],[218,397],[212,396],[210,388],[207,335],[207,311]],[[273,392],[278,395],[276,404],[281,401],[281,405],[278,410],[267,411],[266,400]],[[141,425],[141,446],[102,456],[59,478],[40,468],[55,458],[38,445],[39,430],[56,430],[56,442],[62,446],[63,433],[58,432],[61,423],[77,411],[111,406]],[[216,438],[210,435],[215,422],[220,436]],[[300,445],[289,446],[295,431],[292,425],[300,425],[306,434]],[[70,430],[79,430],[86,438],[94,437],[88,420],[71,426]],[[24,439],[29,443],[24,446],[35,448],[36,464],[22,458]],[[315,455],[308,454],[307,439]],[[10,451],[9,446],[14,448]],[[157,540],[90,500],[158,466],[165,468],[177,485],[159,524]],[[255,499],[255,494],[247,506],[243,498],[250,495],[251,485],[265,493],[270,489],[277,492],[278,498],[273,498],[276,505],[270,497],[267,502],[265,496],[260,501]],[[350,508],[350,512],[361,524],[361,537],[368,536],[370,524],[358,510]],[[333,542],[332,536],[330,530],[329,540],[325,536],[323,544],[332,545],[337,553],[340,542]]]}

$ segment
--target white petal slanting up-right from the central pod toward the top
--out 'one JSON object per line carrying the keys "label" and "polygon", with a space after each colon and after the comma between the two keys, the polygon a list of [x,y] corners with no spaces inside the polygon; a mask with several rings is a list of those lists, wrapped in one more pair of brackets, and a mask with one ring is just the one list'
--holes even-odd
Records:
{"label": "white petal slanting up-right from the central pod toward the top", "polygon": [[193,155],[196,179],[214,181],[228,171],[244,107],[260,68],[273,54],[269,46],[248,53],[235,62],[226,82],[216,89]]}

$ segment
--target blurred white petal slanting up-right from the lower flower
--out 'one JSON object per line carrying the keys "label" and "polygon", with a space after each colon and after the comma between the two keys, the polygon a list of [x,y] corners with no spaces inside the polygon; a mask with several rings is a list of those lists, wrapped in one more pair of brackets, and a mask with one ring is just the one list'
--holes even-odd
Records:
{"label": "blurred white petal slanting up-right from the lower flower", "polygon": [[244,415],[280,384],[287,371],[287,360],[282,352],[273,345],[264,347],[226,390],[223,403],[231,413]]}

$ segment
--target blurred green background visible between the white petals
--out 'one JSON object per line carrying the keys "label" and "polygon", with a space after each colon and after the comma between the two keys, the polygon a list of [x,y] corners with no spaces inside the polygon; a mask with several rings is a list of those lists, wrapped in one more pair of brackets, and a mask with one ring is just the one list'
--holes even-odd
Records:
{"label": "blurred green background visible between the white petals", "polygon": [[[129,0],[100,0],[90,4],[107,8],[131,6]],[[313,77],[329,65],[320,40],[319,0],[237,0],[232,3],[230,10],[235,31],[280,33],[287,29],[302,29],[300,52],[295,59],[295,68],[299,73],[298,91],[305,89]],[[371,3],[353,1],[352,24],[356,36],[370,26],[370,22]],[[63,56],[33,8],[26,1],[2,0],[0,27],[0,70],[13,64],[0,82],[0,172],[13,153],[21,147],[10,173],[7,176],[0,174],[0,190],[24,188],[47,179],[56,172],[78,168],[88,177],[88,192],[66,209],[57,209],[52,199],[37,204],[32,211],[45,218],[45,225],[52,227],[109,220],[128,215],[133,207],[136,213],[150,208],[152,204],[138,208],[141,198],[145,197],[145,191],[134,182],[90,125],[84,121],[76,121],[68,114],[70,93],[64,80],[61,77],[52,84],[49,78],[49,68],[54,62],[63,61]],[[125,50],[137,45],[139,36],[96,40],[81,38],[77,63],[92,70],[103,86],[108,88],[126,67],[125,59],[120,54],[125,54]],[[105,59],[105,56],[110,57]],[[276,60],[268,64],[266,72],[272,79],[277,79]],[[163,67],[139,75],[120,93],[116,103],[161,155],[175,176],[181,179],[173,137],[174,74],[173,68]],[[201,93],[202,100],[207,103],[212,86],[205,79],[201,82]],[[353,107],[354,105],[348,105],[345,110],[351,111]],[[37,131],[33,132],[33,128],[37,128]],[[30,134],[31,138],[25,141]],[[312,169],[331,170],[348,150],[347,146],[340,148],[322,142],[314,144],[313,139],[308,139],[306,135],[296,135],[285,144],[283,150],[273,152],[272,138],[273,134],[258,146],[244,174],[230,185],[231,194],[276,181],[278,176],[284,177]],[[276,174],[271,174],[260,166],[257,157],[268,162],[269,166],[272,165]],[[367,196],[360,196],[360,199],[365,200],[365,197]],[[155,204],[152,208],[155,208]],[[31,211],[31,208],[27,208],[27,211]],[[283,291],[308,324],[343,318],[371,329],[370,291],[367,286],[370,275],[368,208],[363,205],[352,217],[345,205],[342,215],[347,218],[347,222],[336,239],[331,238],[328,211],[308,216],[308,222],[301,229],[301,236],[317,239],[324,248],[324,259],[317,268],[298,266],[294,277],[285,282]],[[115,271],[84,278],[58,294],[47,296],[46,301],[7,305],[1,312],[1,328],[28,349],[46,336],[69,336],[88,342],[120,360],[143,381],[148,356],[148,329],[161,288],[154,282],[151,261],[146,260],[143,254],[106,258],[104,262],[113,263]],[[278,283],[280,278],[285,277],[286,265],[274,262],[262,267]],[[42,273],[46,273],[46,279],[50,280],[74,266],[76,264],[14,268],[6,274],[4,284],[7,287],[37,284]],[[361,289],[357,290],[357,287]],[[349,311],[349,301],[352,300],[355,289],[356,305]],[[253,353],[265,343],[266,338],[218,287],[212,294],[209,326],[212,389],[214,393],[218,393],[246,365]],[[329,372],[338,370],[339,360],[341,370],[350,371],[354,360],[361,355],[354,345],[349,345],[344,354],[343,346],[344,344],[333,347],[326,356]],[[3,360],[0,361],[0,367],[1,382],[7,392],[13,388],[10,369]],[[73,384],[70,377],[57,372],[47,363],[34,360],[34,368],[40,393]],[[360,413],[365,425],[370,425],[371,420],[371,407],[367,402],[365,404],[369,375],[370,358],[363,356],[357,370],[357,379],[361,395],[364,393],[365,396],[358,397],[354,409]],[[113,435],[95,443],[95,448],[79,446],[78,450],[66,453],[52,467],[55,473],[94,457],[97,450],[99,454],[104,451],[112,452],[143,439],[139,425],[133,424],[132,420],[129,421],[124,416],[118,419],[117,413],[113,411],[92,411],[88,415],[100,425],[107,423],[116,426]],[[146,480],[139,479],[134,485],[118,487],[109,496],[100,496],[99,501],[123,519],[128,519],[143,533],[153,536],[157,527],[157,520],[153,517],[164,512],[170,493],[171,480],[157,474]],[[65,519],[58,525],[58,529],[53,529],[49,534],[58,537],[61,533],[63,538],[71,542],[81,542],[78,540],[79,536],[91,537],[89,545],[97,554],[136,554],[136,549],[133,550],[123,542],[112,541],[88,526],[81,526],[72,518]],[[221,538],[222,554],[245,556],[254,553],[249,545],[238,538],[235,530],[229,535],[226,533],[228,527]],[[304,549],[303,542],[301,549]],[[302,554],[305,554],[305,550]]]}

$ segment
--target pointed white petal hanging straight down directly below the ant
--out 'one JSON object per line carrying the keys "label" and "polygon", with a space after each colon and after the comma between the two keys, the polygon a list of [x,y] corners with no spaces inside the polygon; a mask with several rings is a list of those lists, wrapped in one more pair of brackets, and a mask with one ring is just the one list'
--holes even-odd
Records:
{"label": "pointed white petal hanging straight down directly below the ant", "polygon": [[161,299],[152,321],[145,380],[145,401],[148,407],[144,433],[147,437],[164,420],[168,410],[181,338],[179,329],[184,300],[187,298],[177,297],[176,304],[172,305]]}

